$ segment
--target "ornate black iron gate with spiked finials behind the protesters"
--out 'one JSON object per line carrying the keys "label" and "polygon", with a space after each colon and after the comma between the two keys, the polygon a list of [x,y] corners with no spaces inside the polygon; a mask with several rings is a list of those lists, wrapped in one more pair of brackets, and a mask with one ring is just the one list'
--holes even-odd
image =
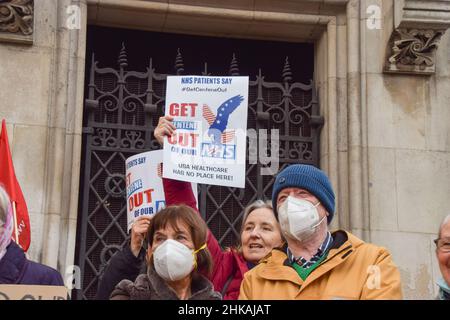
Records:
{"label": "ornate black iron gate with spiked finials behind the protesters", "polygon": [[[100,68],[92,56],[84,121],[84,170],[80,191],[78,265],[82,289],[78,299],[95,296],[98,278],[111,255],[127,240],[125,159],[160,148],[152,136],[164,113],[167,74],[128,71],[124,46],[118,69]],[[183,74],[180,51],[176,74]],[[239,75],[233,55],[229,75]],[[201,72],[209,75],[207,65]],[[252,80],[254,78],[254,80]],[[266,82],[261,71],[250,76],[248,128],[279,130],[280,169],[290,163],[319,162],[319,132],[323,119],[312,82],[292,82],[286,58],[282,82]],[[268,141],[268,148],[270,149]],[[255,148],[248,141],[248,149]],[[248,158],[248,157],[247,157]],[[237,243],[243,209],[256,199],[270,199],[274,177],[261,175],[265,165],[247,163],[246,188],[199,186],[199,206],[222,246]]]}

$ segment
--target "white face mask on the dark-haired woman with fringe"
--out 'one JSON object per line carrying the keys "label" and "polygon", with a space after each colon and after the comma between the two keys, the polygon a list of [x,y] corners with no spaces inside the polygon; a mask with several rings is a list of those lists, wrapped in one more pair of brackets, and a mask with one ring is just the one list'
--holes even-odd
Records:
{"label": "white face mask on the dark-haired woman with fringe", "polygon": [[196,254],[179,241],[167,239],[153,252],[156,273],[166,281],[177,281],[186,277],[196,267]]}

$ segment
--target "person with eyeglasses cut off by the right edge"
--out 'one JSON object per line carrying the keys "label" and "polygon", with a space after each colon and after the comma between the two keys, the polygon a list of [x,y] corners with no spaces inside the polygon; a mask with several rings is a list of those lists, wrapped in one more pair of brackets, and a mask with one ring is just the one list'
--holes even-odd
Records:
{"label": "person with eyeglasses cut off by the right edge", "polygon": [[439,238],[436,243],[436,256],[441,270],[442,278],[437,282],[439,286],[439,299],[450,300],[450,215],[441,223]]}

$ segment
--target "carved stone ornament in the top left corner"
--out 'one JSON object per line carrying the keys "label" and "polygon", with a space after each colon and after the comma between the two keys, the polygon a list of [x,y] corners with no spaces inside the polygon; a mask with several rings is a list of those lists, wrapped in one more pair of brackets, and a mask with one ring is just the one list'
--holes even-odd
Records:
{"label": "carved stone ornament in the top left corner", "polygon": [[0,42],[32,44],[33,25],[33,0],[0,0]]}

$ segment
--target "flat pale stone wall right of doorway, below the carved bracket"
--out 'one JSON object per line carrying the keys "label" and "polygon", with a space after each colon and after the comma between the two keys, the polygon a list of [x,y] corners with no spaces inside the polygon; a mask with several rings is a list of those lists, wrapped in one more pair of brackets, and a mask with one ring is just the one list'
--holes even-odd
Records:
{"label": "flat pale stone wall right of doorway, below the carved bracket", "polygon": [[383,30],[363,29],[368,240],[392,252],[405,298],[429,299],[439,276],[432,240],[450,212],[450,32],[440,42],[435,75],[383,74],[381,44],[392,32],[394,7],[370,2],[382,6],[384,18]]}

